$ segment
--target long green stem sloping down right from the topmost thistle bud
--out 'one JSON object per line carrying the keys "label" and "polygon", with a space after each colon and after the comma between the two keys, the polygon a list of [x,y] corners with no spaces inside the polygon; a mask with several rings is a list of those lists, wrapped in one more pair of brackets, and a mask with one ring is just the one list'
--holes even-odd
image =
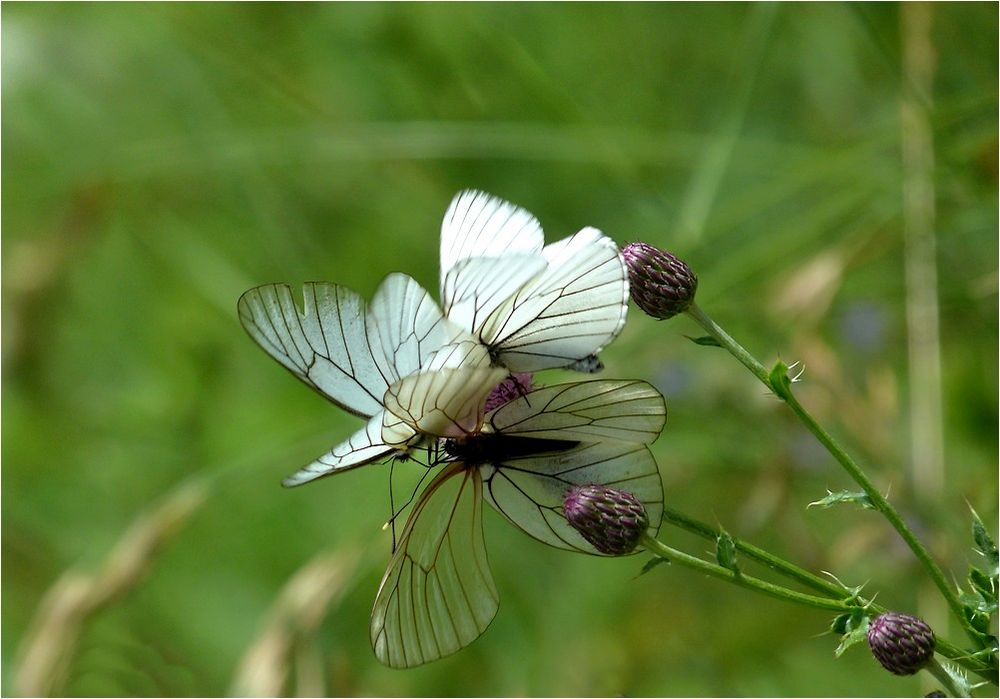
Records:
{"label": "long green stem sloping down right from the topmost thistle bud", "polygon": [[846,451],[841,448],[833,437],[831,437],[819,423],[813,419],[812,415],[802,407],[802,405],[796,400],[795,396],[791,392],[790,383],[787,381],[784,385],[774,385],[775,382],[771,381],[771,377],[764,366],[758,362],[749,352],[747,352],[743,347],[736,342],[732,337],[729,336],[726,331],[715,324],[715,322],[709,318],[704,311],[702,311],[696,304],[691,304],[688,309],[688,314],[694,318],[699,325],[701,325],[715,340],[724,347],[730,354],[732,354],[736,359],[740,361],[750,372],[756,376],[761,383],[767,386],[769,389],[774,391],[775,395],[785,401],[786,404],[792,409],[792,412],[802,421],[819,442],[826,447],[827,451],[833,455],[837,462],[843,467],[847,474],[854,479],[858,485],[861,486],[862,490],[871,500],[874,508],[881,512],[882,515],[889,521],[889,524],[899,533],[903,538],[903,541],[910,547],[913,554],[917,557],[917,560],[924,566],[927,573],[930,575],[931,580],[937,586],[938,590],[941,592],[942,597],[948,603],[951,608],[952,613],[958,618],[959,623],[962,628],[965,629],[966,634],[972,639],[978,647],[983,647],[983,640],[980,634],[972,628],[969,620],[965,618],[965,614],[962,611],[962,603],[959,601],[958,596],[951,589],[948,584],[948,580],[944,576],[944,572],[937,565],[934,559],[931,558],[930,553],[924,547],[924,545],[917,539],[916,535],[910,530],[910,528],[903,521],[903,518],[899,515],[896,509],[889,504],[882,493],[875,488],[874,484],[868,479],[861,467],[858,466],[854,460],[847,454]]}

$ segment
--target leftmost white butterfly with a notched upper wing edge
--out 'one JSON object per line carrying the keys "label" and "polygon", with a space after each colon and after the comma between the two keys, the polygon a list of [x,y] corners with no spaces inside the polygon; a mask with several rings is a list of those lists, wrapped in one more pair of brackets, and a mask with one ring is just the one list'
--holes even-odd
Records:
{"label": "leftmost white butterfly with a notched upper wing edge", "polygon": [[371,304],[350,289],[325,282],[305,284],[303,297],[300,310],[287,284],[256,287],[237,304],[240,322],[257,344],[308,386],[369,420],[286,478],[286,486],[404,453],[428,435],[455,434],[430,418],[415,426],[397,421],[384,430],[386,391],[401,378],[421,368],[467,367],[470,373],[462,381],[438,374],[422,386],[444,401],[449,419],[464,427],[481,415],[463,410],[475,409],[505,373],[490,369],[486,349],[446,320],[430,295],[404,274],[387,276]]}

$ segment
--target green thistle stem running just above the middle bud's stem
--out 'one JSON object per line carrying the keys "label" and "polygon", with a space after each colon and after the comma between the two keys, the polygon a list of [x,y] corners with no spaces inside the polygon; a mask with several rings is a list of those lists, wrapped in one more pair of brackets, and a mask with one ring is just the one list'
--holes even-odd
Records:
{"label": "green thistle stem running just above the middle bud's stem", "polygon": [[[665,522],[673,524],[679,529],[691,532],[692,534],[696,534],[703,539],[712,542],[717,542],[722,533],[719,529],[712,527],[711,525],[688,517],[687,515],[669,507],[664,508],[663,519]],[[744,554],[747,558],[765,565],[771,570],[803,585],[811,587],[828,597],[842,600],[850,594],[850,590],[844,588],[843,586],[818,575],[814,575],[813,573],[810,573],[809,571],[804,570],[797,565],[784,560],[783,558],[779,558],[768,551],[758,548],[753,544],[748,544],[745,541],[736,539],[735,537],[733,538],[733,544],[736,546],[736,550]],[[873,616],[884,614],[888,611],[885,607],[875,604],[864,597],[856,596],[855,599],[859,605],[863,606]],[[969,657],[968,651],[963,648],[959,648],[950,641],[942,638],[939,634],[935,634],[935,637],[938,653],[948,658],[956,665],[960,665],[966,670],[974,672],[983,679],[992,682],[993,684],[997,684],[996,668],[993,668],[982,661],[976,660],[975,658]]]}

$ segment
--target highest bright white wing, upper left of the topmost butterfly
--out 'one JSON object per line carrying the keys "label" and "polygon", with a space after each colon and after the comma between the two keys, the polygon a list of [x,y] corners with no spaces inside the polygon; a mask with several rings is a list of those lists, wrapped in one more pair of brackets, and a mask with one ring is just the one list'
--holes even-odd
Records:
{"label": "highest bright white wing, upper left of the topmost butterfly", "polygon": [[485,192],[459,192],[441,224],[442,300],[448,298],[444,280],[460,260],[537,254],[543,242],[541,225],[524,209]]}

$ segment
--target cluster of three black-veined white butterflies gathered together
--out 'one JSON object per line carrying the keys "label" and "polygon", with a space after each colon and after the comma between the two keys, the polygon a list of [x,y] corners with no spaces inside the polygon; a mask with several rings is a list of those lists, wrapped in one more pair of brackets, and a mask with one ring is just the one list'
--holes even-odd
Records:
{"label": "cluster of three black-veined white butterflies gathered together", "polygon": [[596,355],[621,331],[627,310],[628,277],[615,243],[585,228],[543,246],[531,214],[469,190],[445,214],[441,275],[442,307],[399,273],[370,304],[314,282],[304,286],[301,310],[285,284],[251,289],[238,306],[243,327],[268,354],[368,418],[286,486],[421,445],[444,453],[372,611],[372,646],[392,667],[454,653],[496,614],[484,499],[539,541],[591,554],[598,552],[562,516],[572,486],[630,491],[647,509],[651,533],[662,515],[662,483],[645,445],[659,435],[666,412],[649,384],[548,386],[484,415],[491,391],[513,372],[599,366]]}

